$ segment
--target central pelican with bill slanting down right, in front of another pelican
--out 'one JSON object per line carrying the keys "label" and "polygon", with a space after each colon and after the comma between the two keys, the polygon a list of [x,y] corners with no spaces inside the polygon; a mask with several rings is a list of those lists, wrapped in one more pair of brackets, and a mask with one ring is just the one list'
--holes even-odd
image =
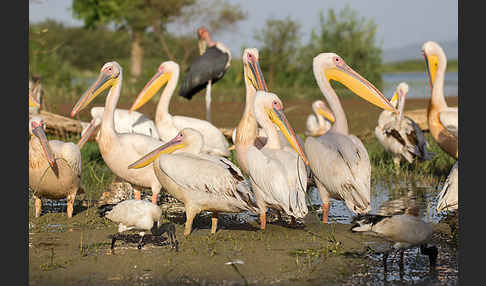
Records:
{"label": "central pelican with bill slanting down right, in front of another pelican", "polygon": [[[307,214],[305,200],[308,164],[304,151],[283,113],[282,101],[274,93],[259,90],[254,102],[256,120],[267,134],[265,146],[246,151],[246,166],[260,210],[260,228],[265,229],[267,207],[295,218]],[[278,129],[292,147],[280,143]],[[299,158],[300,156],[300,158]]]}

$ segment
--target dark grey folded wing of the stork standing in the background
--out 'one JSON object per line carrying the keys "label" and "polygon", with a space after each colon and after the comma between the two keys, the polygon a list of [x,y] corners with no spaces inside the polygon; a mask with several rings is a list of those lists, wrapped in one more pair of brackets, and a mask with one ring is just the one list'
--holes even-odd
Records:
{"label": "dark grey folded wing of the stork standing in the background", "polygon": [[187,99],[206,88],[209,80],[211,84],[220,80],[226,72],[228,54],[216,46],[209,47],[206,52],[197,57],[182,79],[179,95]]}

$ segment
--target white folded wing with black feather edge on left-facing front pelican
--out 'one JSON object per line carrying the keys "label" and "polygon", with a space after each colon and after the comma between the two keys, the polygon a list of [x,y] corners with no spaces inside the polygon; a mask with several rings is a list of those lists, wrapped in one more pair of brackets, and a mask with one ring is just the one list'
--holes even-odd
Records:
{"label": "white folded wing with black feather edge on left-facing front pelican", "polygon": [[[241,171],[224,158],[189,153],[161,155],[160,169],[176,184],[195,193],[205,192],[223,199],[251,204],[248,184]],[[248,207],[252,210],[251,207]]]}

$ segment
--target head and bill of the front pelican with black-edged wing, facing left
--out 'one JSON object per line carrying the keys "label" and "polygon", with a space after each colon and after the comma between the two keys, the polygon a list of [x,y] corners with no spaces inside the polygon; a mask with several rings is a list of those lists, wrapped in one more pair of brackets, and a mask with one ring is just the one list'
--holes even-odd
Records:
{"label": "head and bill of the front pelican with black-edged wing, facing left", "polygon": [[201,152],[203,145],[204,141],[201,132],[192,128],[184,128],[179,131],[172,140],[157,147],[152,152],[130,164],[128,169],[143,168],[155,161],[162,154],[178,153],[182,151],[198,154]]}

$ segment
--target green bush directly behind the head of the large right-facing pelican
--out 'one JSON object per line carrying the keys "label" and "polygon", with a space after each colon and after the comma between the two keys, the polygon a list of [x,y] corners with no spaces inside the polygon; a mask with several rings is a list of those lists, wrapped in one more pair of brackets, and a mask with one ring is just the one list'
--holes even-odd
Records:
{"label": "green bush directly behind the head of the large right-facing pelican", "polygon": [[306,77],[304,83],[313,81],[312,59],[323,52],[334,52],[362,76],[381,89],[382,50],[376,43],[377,25],[372,19],[359,17],[355,10],[347,5],[336,14],[328,10],[327,17],[320,12],[320,26],[313,30],[310,44],[301,51],[302,69]]}

